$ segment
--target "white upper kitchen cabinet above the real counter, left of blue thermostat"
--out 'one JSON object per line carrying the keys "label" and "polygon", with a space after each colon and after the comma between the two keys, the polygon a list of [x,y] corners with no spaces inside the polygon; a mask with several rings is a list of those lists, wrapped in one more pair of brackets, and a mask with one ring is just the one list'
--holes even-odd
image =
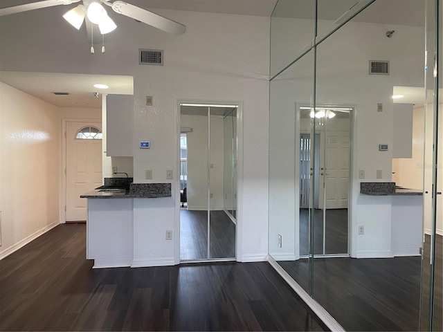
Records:
{"label": "white upper kitchen cabinet above the real counter, left of blue thermostat", "polygon": [[106,111],[107,156],[132,157],[134,96],[107,95]]}

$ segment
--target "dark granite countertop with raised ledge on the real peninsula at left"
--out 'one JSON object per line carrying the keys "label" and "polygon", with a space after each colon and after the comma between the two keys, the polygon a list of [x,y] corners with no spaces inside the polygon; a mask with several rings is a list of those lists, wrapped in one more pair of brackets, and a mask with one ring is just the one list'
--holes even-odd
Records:
{"label": "dark granite countertop with raised ledge on the real peninsula at left", "polygon": [[81,199],[155,199],[170,197],[170,183],[131,183],[129,190],[91,190],[80,196]]}

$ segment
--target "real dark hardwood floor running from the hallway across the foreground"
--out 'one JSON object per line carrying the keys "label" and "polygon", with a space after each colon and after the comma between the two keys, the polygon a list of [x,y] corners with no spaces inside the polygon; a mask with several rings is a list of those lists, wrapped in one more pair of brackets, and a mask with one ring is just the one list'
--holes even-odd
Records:
{"label": "real dark hardwood floor running from the hallway across the foreground", "polygon": [[85,237],[58,225],[0,261],[0,331],[323,331],[266,262],[93,270]]}

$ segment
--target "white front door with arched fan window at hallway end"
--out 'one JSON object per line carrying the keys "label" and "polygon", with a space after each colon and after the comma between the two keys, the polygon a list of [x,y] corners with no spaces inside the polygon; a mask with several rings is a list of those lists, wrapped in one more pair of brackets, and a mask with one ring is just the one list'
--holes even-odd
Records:
{"label": "white front door with arched fan window at hallway end", "polygon": [[66,122],[66,221],[87,220],[87,199],[80,195],[102,184],[102,140],[78,139],[78,131],[100,122]]}

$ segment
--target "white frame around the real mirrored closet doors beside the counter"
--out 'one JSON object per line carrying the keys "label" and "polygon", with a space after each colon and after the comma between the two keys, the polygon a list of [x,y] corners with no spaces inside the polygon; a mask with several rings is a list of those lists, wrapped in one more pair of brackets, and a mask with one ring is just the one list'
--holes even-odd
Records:
{"label": "white frame around the real mirrored closet doors beside the counter", "polygon": [[[235,259],[242,261],[243,255],[243,102],[235,101],[215,101],[215,100],[177,100],[177,109],[175,112],[175,157],[174,157],[174,174],[180,174],[180,114],[181,104],[217,104],[217,105],[237,105],[237,214],[235,227]],[[175,176],[175,218],[174,218],[174,232],[180,234],[180,200],[179,190],[180,176]],[[174,264],[180,264],[180,236],[174,239]],[[226,260],[226,259],[225,259]],[[223,261],[223,259],[204,259],[204,261]]]}

